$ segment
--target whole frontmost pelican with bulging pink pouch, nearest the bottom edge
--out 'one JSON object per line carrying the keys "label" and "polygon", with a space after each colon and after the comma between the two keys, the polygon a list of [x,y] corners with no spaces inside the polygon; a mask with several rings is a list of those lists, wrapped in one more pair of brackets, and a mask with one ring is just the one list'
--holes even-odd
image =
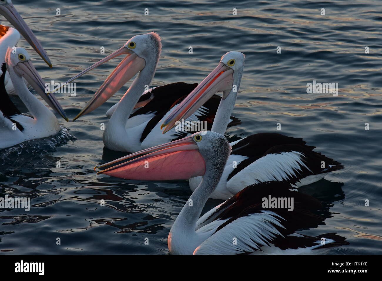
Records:
{"label": "whole frontmost pelican with bulging pink pouch, nearest the bottom edge", "polygon": [[[141,154],[146,155],[130,160]],[[296,233],[323,221],[311,213],[321,210],[322,205],[309,195],[290,190],[287,182],[249,185],[199,218],[229,155],[230,145],[223,135],[199,132],[125,156],[119,161],[127,162],[97,174],[138,180],[202,177],[171,227],[168,249],[172,254],[324,254],[333,247],[349,244],[335,233],[316,237]],[[264,198],[293,198],[293,210],[263,205]]]}

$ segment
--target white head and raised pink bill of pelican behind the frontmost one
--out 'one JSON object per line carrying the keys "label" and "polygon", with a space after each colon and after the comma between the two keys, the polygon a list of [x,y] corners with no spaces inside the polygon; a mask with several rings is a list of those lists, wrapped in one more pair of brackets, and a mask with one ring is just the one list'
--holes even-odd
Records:
{"label": "white head and raised pink bill of pelican behind the frontmost one", "polygon": [[[212,71],[188,96],[168,115],[161,128],[163,133],[171,130],[176,121],[187,119],[210,97],[217,92],[223,92],[223,100],[226,99],[240,85],[244,68],[244,54],[240,52],[228,52],[220,59],[217,67]],[[236,85],[235,87],[233,87]]]}

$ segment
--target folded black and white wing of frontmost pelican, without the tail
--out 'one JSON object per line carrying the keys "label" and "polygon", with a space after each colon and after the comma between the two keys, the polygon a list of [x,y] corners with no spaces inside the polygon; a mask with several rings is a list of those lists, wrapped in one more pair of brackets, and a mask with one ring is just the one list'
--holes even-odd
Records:
{"label": "folded black and white wing of frontmost pelican, without the tail", "polygon": [[[280,239],[298,229],[316,227],[323,219],[311,210],[319,210],[322,205],[315,198],[290,188],[287,182],[254,184],[219,205],[215,213],[208,212],[210,218],[204,219],[197,232],[215,232],[197,247],[194,254],[253,253],[262,251],[264,245],[280,243]],[[263,199],[269,196],[293,198],[293,210],[280,206],[263,207]]]}

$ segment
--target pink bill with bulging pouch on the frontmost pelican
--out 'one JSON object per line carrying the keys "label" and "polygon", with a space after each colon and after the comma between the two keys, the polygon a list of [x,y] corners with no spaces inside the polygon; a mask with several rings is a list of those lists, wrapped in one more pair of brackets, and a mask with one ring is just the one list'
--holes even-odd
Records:
{"label": "pink bill with bulging pouch on the frontmost pelican", "polygon": [[[146,155],[130,160],[142,154]],[[97,174],[135,180],[181,180],[204,175],[206,171],[204,158],[191,136],[95,166],[94,170],[121,161],[126,162]]]}

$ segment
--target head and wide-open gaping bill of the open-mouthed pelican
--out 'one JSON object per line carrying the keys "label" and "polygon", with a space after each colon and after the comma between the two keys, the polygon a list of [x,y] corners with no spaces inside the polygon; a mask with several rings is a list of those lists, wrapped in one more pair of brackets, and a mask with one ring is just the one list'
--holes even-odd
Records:
{"label": "head and wide-open gaping bill of the open-mouthed pelican", "polygon": [[159,60],[161,49],[162,43],[160,42],[160,37],[157,33],[150,32],[147,34],[136,35],[127,41],[123,47],[113,52],[113,54],[110,54],[99,62],[94,63],[94,65],[86,68],[78,75],[66,81],[64,85],[76,80],[78,77],[84,75],[93,68],[98,67],[102,63],[111,60],[112,58],[120,55],[126,55],[126,57],[123,58],[123,60],[100,86],[92,99],[86,104],[84,109],[81,110],[81,112],[73,120],[78,119],[80,116],[87,114],[102,105],[138,72],[142,71],[146,67],[146,64],[150,63],[150,65],[153,65],[153,67],[148,69],[149,73],[147,73],[147,75],[153,75]]}

